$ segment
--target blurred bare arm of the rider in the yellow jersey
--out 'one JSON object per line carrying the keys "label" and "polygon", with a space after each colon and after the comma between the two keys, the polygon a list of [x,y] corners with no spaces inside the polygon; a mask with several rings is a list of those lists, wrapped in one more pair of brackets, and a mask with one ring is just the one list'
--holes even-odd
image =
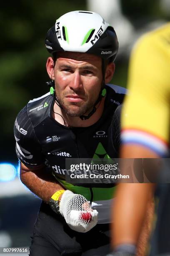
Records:
{"label": "blurred bare arm of the rider in the yellow jersey", "polygon": [[[158,158],[153,151],[139,145],[122,146],[122,158]],[[135,153],[134,153],[135,152]],[[154,212],[153,191],[155,184],[122,183],[117,188],[116,202],[112,208],[112,246],[131,243],[137,255],[145,255]],[[121,220],[121,221],[120,221]]]}

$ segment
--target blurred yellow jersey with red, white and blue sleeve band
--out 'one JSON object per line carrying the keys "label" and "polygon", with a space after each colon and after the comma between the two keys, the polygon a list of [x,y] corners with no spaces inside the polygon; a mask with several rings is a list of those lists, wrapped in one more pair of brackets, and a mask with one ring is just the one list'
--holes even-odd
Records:
{"label": "blurred yellow jersey with red, white and blue sleeve band", "polygon": [[170,23],[140,38],[130,57],[122,143],[166,156],[170,141]]}

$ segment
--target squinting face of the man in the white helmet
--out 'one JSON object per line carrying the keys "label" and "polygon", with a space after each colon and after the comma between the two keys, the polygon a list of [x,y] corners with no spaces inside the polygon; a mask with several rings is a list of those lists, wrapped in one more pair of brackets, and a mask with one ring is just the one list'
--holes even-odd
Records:
{"label": "squinting face of the man in the white helmet", "polygon": [[89,113],[102,85],[102,61],[92,54],[64,52],[54,67],[55,92],[67,115]]}

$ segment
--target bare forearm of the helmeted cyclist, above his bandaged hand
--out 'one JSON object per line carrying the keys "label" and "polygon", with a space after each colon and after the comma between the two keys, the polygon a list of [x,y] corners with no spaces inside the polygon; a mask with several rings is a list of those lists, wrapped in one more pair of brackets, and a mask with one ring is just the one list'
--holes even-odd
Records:
{"label": "bare forearm of the helmeted cyclist, above his bandaged hand", "polygon": [[44,165],[28,168],[21,163],[20,179],[26,187],[45,202],[49,202],[57,190],[63,189],[51,173],[45,172]]}

